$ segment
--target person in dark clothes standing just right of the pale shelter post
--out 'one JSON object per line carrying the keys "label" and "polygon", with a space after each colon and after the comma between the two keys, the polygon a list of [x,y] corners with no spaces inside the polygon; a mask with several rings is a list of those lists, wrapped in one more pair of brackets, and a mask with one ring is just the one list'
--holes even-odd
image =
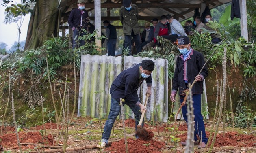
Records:
{"label": "person in dark clothes standing just right of the pale shelter post", "polygon": [[108,20],[103,21],[106,28],[108,56],[115,56],[115,46],[117,44],[117,30],[115,26],[109,23]]}

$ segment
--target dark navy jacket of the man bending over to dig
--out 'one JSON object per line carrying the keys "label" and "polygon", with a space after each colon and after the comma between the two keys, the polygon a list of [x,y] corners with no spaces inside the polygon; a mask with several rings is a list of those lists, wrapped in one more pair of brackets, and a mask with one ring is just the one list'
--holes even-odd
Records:
{"label": "dark navy jacket of the man bending over to dig", "polygon": [[151,75],[147,79],[142,78],[139,66],[141,66],[141,63],[124,70],[115,78],[110,87],[112,98],[117,101],[123,98],[126,102],[132,102],[134,104],[139,101],[137,90],[142,82],[146,80],[148,86],[152,85]]}

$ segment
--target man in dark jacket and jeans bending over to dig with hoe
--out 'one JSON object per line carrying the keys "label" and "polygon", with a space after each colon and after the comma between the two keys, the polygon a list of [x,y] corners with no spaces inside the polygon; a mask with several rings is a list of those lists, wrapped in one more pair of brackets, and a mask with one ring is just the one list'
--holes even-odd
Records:
{"label": "man in dark jacket and jeans bending over to dig with hoe", "polygon": [[[121,110],[121,106],[119,105],[120,98],[123,98],[125,100],[123,102],[123,105],[126,104],[127,106],[129,106],[135,114],[136,131],[137,125],[139,124],[139,120],[141,117],[141,112],[143,110],[146,110],[145,106],[141,104],[141,101],[139,100],[137,90],[139,89],[143,81],[146,81],[148,86],[146,94],[151,95],[151,74],[153,70],[154,62],[152,60],[143,60],[141,63],[124,70],[115,78],[109,90],[111,94],[110,112],[102,133],[102,143],[100,145],[97,145],[98,148],[103,149],[108,144],[108,139],[110,137],[113,124],[115,123],[115,119],[117,118]],[[137,139],[139,138],[137,134],[135,134],[135,137]]]}

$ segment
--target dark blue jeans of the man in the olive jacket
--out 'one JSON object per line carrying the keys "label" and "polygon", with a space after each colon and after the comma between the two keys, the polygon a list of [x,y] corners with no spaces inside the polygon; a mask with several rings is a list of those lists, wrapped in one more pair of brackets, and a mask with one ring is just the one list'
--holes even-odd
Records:
{"label": "dark blue jeans of the man in the olive jacket", "polygon": [[[133,37],[133,39],[132,39]],[[124,35],[124,48],[126,49],[128,47],[128,49],[130,49],[130,53],[129,55],[131,55],[131,51],[132,51],[132,43],[135,42],[135,47],[136,47],[136,53],[141,52],[141,37],[139,36],[139,34],[134,35],[133,30],[132,30],[132,35]],[[133,42],[132,42],[133,40]]]}

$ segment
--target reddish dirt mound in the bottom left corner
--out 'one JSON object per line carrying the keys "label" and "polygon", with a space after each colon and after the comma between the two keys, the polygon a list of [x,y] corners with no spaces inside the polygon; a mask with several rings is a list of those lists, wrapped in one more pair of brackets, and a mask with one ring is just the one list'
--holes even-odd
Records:
{"label": "reddish dirt mound in the bottom left corner", "polygon": [[[4,148],[18,149],[17,136],[15,133],[4,134],[0,136],[1,144]],[[40,143],[45,145],[53,145],[52,135],[49,134],[44,139],[40,132],[19,132],[20,143]],[[55,143],[54,143],[55,144]],[[35,146],[22,146],[22,149],[33,149]]]}

